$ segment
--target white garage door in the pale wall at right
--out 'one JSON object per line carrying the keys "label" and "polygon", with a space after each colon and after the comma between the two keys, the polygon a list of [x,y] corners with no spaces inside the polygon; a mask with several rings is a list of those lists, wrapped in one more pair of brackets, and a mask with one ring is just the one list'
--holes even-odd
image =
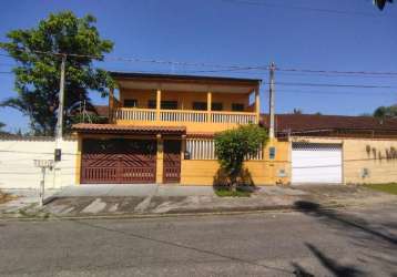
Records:
{"label": "white garage door in the pale wall at right", "polygon": [[342,145],[293,143],[293,184],[340,184]]}

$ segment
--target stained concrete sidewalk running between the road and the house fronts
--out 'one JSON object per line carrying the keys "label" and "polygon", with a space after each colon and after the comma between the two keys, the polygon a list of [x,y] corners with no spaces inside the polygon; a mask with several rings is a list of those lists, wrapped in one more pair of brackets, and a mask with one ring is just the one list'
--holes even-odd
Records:
{"label": "stained concrete sidewalk running between the road and the house fronts", "polygon": [[80,185],[51,192],[42,208],[31,194],[0,205],[0,217],[102,217],[293,209],[298,203],[323,207],[371,205],[397,196],[362,186],[263,186],[251,197],[218,197],[212,186]]}

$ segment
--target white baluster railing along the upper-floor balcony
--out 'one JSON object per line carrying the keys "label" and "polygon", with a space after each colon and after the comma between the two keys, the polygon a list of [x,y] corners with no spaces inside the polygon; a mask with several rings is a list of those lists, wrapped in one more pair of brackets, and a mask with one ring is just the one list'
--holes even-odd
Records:
{"label": "white baluster railing along the upper-floor balcony", "polygon": [[166,121],[197,123],[257,123],[256,113],[248,112],[207,112],[186,110],[161,110],[157,119],[156,110],[120,107],[114,112],[114,119],[121,121]]}

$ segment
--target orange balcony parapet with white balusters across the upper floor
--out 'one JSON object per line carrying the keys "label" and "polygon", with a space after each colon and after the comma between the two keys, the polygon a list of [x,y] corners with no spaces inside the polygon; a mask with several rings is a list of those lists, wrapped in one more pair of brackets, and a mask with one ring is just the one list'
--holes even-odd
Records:
{"label": "orange balcony parapet with white balusters across the upper floor", "polygon": [[233,126],[257,123],[254,112],[215,112],[190,110],[153,110],[119,107],[114,110],[116,124],[186,126],[190,132],[217,132]]}

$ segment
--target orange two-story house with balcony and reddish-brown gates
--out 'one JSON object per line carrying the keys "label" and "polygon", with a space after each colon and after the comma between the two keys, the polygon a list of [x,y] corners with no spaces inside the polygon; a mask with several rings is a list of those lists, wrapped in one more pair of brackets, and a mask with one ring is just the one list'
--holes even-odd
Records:
{"label": "orange two-story house with balcony and reddish-brown gates", "polygon": [[[214,134],[259,122],[261,80],[112,73],[108,124],[77,124],[81,184],[212,185]],[[115,95],[119,94],[119,95]],[[254,182],[274,183],[264,150],[250,157]]]}

